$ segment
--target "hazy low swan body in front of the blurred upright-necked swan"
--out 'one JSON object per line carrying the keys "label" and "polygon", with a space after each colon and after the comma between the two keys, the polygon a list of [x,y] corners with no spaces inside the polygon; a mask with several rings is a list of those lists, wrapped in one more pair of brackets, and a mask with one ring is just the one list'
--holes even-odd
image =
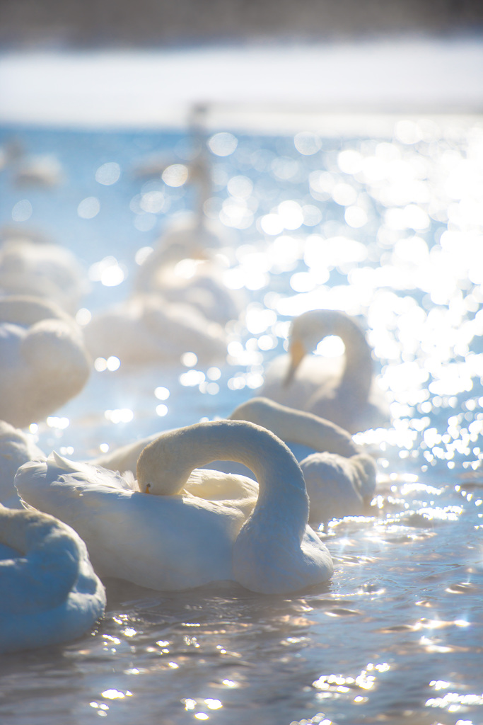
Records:
{"label": "hazy low swan body in front of the blurred upright-necked swan", "polygon": [[227,355],[217,323],[156,294],[133,295],[93,315],[83,332],[93,357],[115,355],[125,365],[177,363],[184,352],[194,352],[201,364],[222,363]]}

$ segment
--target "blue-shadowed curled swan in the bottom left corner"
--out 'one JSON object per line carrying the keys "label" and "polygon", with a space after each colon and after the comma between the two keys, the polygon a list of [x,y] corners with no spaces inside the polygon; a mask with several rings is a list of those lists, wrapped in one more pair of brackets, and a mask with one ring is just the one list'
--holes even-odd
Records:
{"label": "blue-shadowed curled swan in the bottom left corner", "polygon": [[85,544],[70,526],[1,505],[0,592],[1,653],[76,639],[106,606]]}

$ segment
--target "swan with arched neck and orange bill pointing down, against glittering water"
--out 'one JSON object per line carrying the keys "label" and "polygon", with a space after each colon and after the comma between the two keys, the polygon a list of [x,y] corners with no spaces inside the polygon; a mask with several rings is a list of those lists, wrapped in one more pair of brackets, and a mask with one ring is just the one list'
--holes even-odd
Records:
{"label": "swan with arched neck and orange bill pointing down, against glittering water", "polygon": [[[307,355],[327,335],[343,340],[343,359]],[[385,426],[389,407],[374,383],[364,332],[339,310],[310,310],[293,320],[288,355],[269,365],[260,394],[308,410],[350,433]]]}

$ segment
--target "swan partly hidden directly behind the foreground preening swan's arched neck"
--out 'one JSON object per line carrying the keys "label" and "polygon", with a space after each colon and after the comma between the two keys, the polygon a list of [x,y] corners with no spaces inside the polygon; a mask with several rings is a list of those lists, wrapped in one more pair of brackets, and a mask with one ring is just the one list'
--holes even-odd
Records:
{"label": "swan partly hidden directly behind the foreground preening swan's arched neck", "polygon": [[[282,439],[300,461],[310,502],[309,521],[322,523],[332,518],[364,513],[376,488],[377,468],[370,455],[361,452],[352,437],[335,423],[313,413],[280,405],[267,398],[252,398],[239,405],[229,416],[234,421],[250,421],[272,431]],[[119,447],[91,461],[113,471],[135,471],[140,452],[159,434]],[[219,495],[237,499],[245,495],[245,483],[238,492],[238,476],[255,478],[253,470],[235,460],[213,460],[203,465],[212,472],[232,474],[230,487],[218,479]],[[193,471],[192,476],[197,473]],[[199,473],[199,471],[198,471]],[[205,474],[203,473],[203,476]],[[225,486],[225,488],[223,488]],[[191,489],[189,489],[191,490]],[[198,479],[196,495],[211,499],[206,477]],[[256,500],[254,494],[253,503]]]}

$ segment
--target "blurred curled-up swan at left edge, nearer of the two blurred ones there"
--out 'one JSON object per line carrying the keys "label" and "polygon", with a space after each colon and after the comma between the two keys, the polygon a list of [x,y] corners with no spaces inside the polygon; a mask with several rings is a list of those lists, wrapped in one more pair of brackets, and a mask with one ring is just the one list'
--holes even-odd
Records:
{"label": "blurred curled-up swan at left edge, nearer of the two blurred ones there", "polygon": [[83,389],[91,361],[75,321],[54,303],[0,297],[0,419],[24,428]]}

